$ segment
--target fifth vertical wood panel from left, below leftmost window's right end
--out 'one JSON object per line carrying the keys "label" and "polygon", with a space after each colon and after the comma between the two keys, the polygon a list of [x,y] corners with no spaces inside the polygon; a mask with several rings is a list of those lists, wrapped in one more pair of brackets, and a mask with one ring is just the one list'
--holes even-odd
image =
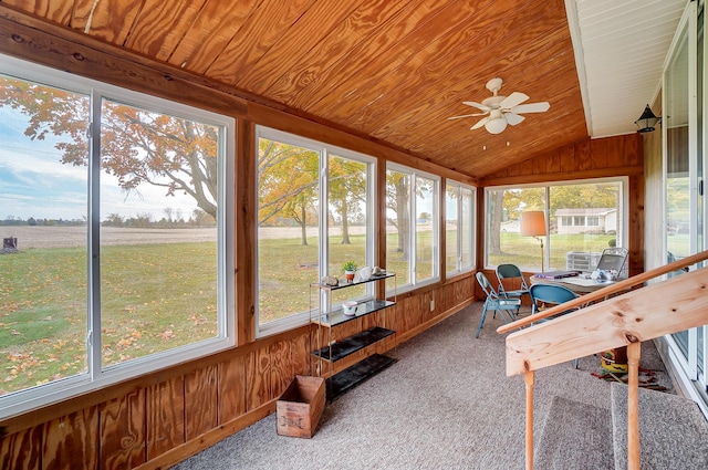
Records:
{"label": "fifth vertical wood panel from left, below leftmost window's right end", "polygon": [[217,427],[219,398],[217,364],[185,375],[185,437],[187,440]]}

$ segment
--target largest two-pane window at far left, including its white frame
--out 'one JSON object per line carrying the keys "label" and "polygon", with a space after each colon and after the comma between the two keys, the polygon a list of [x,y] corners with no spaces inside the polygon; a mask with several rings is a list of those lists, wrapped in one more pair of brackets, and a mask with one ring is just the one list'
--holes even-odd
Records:
{"label": "largest two-pane window at far left, including its white frame", "polygon": [[235,344],[233,119],[1,56],[0,115],[0,414]]}

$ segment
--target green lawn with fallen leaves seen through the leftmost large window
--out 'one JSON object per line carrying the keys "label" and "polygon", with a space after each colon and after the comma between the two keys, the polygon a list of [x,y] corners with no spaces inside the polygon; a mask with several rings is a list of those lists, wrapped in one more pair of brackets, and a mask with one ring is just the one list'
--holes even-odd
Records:
{"label": "green lawn with fallen leaves seen through the leftmost large window", "polygon": [[[216,246],[102,249],[104,365],[216,334]],[[86,254],[0,255],[0,395],[86,370]]]}

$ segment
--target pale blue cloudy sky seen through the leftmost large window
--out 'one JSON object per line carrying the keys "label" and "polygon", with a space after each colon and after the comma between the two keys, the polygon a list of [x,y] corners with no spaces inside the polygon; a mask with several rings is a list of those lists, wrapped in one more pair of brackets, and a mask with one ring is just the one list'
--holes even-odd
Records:
{"label": "pale blue cloudy sky seen through the leftmost large window", "polygon": [[[87,168],[61,164],[55,137],[27,137],[27,117],[19,112],[0,107],[0,220],[86,218]],[[102,173],[101,181],[102,220],[113,212],[124,218],[150,212],[159,220],[167,207],[189,218],[196,208],[192,198],[166,197],[164,188],[142,185],[139,194],[126,195],[116,178]]]}

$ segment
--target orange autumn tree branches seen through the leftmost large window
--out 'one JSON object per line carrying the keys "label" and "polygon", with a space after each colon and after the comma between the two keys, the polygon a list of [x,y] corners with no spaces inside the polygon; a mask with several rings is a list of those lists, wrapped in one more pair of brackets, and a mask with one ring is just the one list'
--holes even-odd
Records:
{"label": "orange autumn tree branches seen through the leftmost large window", "polygon": [[[0,77],[0,106],[29,117],[24,134],[43,140],[69,136],[55,148],[62,163],[87,165],[87,97],[48,86]],[[181,191],[216,219],[218,128],[105,100],[101,117],[101,166],[126,192],[142,184]]]}

